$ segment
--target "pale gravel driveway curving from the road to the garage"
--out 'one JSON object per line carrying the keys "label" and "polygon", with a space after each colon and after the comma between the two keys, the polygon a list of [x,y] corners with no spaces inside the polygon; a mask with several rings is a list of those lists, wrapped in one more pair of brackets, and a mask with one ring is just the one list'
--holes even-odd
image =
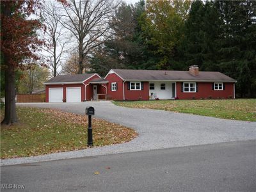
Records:
{"label": "pale gravel driveway curving from the road to the garage", "polygon": [[[24,103],[19,106],[58,108],[84,114],[86,106],[95,108],[95,117],[134,128],[138,138],[120,145],[90,148],[76,152],[63,152],[40,157],[16,159],[23,162],[65,159],[70,157],[97,156],[159,148],[203,145],[227,141],[255,140],[256,122],[224,120],[208,116],[173,113],[155,109],[132,109],[115,106],[109,101],[80,103]],[[86,128],[86,127],[85,127]],[[37,160],[35,160],[37,158]],[[23,160],[22,160],[23,159]],[[15,164],[15,159],[2,164]]]}

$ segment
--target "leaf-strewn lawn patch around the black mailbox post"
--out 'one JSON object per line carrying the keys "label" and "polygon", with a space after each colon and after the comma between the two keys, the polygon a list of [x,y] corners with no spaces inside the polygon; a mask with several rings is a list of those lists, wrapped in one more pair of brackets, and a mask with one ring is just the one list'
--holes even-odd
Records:
{"label": "leaf-strewn lawn patch around the black mailbox post", "polygon": [[[38,108],[17,108],[17,115],[19,124],[1,126],[1,159],[87,148],[86,115]],[[133,129],[97,118],[92,118],[92,127],[94,147],[125,143],[138,136]]]}

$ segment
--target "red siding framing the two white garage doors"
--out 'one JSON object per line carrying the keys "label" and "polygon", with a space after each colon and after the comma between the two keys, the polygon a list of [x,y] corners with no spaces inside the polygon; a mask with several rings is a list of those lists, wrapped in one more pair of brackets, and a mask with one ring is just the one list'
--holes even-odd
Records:
{"label": "red siding framing the two white garage doors", "polygon": [[67,87],[81,87],[81,101],[84,100],[84,84],[46,84],[45,85],[45,102],[49,102],[49,88],[63,88],[63,100],[66,100]]}

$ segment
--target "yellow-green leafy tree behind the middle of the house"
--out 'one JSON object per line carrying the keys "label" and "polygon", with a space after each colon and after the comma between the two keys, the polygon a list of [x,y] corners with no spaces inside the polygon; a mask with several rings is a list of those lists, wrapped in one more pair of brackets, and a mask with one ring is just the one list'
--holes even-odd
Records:
{"label": "yellow-green leafy tree behind the middle of the house", "polygon": [[142,29],[159,69],[172,68],[170,61],[182,42],[190,4],[191,1],[147,1]]}

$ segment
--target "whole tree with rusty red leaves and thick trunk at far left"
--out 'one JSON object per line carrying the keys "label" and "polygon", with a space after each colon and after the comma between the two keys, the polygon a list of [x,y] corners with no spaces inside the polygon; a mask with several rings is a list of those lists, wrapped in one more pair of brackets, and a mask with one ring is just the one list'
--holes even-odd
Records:
{"label": "whole tree with rusty red leaves and thick trunk at far left", "polygon": [[[1,55],[3,54],[5,111],[2,124],[17,122],[15,106],[15,71],[22,68],[27,58],[37,59],[35,51],[42,41],[36,29],[42,25],[36,19],[28,19],[41,4],[37,0],[1,1]],[[1,66],[2,67],[2,66]]]}

